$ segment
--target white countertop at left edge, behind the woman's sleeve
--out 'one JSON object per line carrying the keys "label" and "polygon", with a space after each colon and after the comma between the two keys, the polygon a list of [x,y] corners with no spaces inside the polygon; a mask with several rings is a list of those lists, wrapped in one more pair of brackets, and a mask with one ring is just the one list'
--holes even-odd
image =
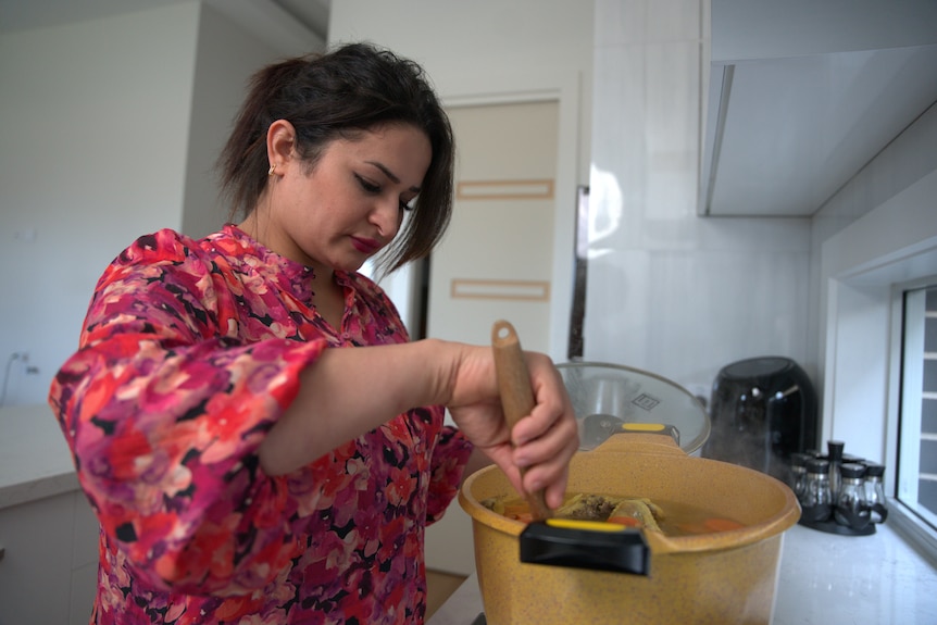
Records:
{"label": "white countertop at left edge, behind the woman's sleeve", "polygon": [[0,408],[0,509],[77,488],[72,452],[52,409]]}

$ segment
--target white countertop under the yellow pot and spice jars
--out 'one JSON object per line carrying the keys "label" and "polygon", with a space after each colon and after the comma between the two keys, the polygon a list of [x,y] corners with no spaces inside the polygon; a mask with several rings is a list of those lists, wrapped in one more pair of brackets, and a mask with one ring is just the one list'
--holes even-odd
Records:
{"label": "white countertop under the yellow pot and spice jars", "polygon": [[[469,577],[428,625],[472,625],[483,611]],[[773,625],[937,623],[937,570],[888,524],[872,536],[795,525],[784,535]]]}

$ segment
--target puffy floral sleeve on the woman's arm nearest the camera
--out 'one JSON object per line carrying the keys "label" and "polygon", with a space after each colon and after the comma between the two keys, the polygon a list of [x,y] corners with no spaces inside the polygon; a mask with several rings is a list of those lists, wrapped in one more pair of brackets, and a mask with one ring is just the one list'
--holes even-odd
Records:
{"label": "puffy floral sleeve on the woman's arm nearest the camera", "polygon": [[50,389],[111,545],[159,589],[245,592],[297,553],[286,480],[258,447],[325,342],[241,343],[229,279],[177,237],[140,239],[101,277]]}

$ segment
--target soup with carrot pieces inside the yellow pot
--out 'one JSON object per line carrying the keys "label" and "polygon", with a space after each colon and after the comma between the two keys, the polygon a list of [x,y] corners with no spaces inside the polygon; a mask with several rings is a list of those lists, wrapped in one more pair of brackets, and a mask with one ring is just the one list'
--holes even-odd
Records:
{"label": "soup with carrot pieces inside the yellow pot", "polygon": [[[516,496],[499,496],[482,501],[489,510],[509,518],[533,521],[527,502]],[[661,532],[667,536],[688,536],[728,532],[744,525],[710,511],[675,501],[651,501],[644,497],[570,493],[554,512],[557,518],[602,521],[629,527]]]}

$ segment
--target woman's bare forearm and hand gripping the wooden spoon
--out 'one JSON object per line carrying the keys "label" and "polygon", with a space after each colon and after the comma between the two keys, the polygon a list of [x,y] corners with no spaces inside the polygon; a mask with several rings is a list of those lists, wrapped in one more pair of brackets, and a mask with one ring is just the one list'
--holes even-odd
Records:
{"label": "woman's bare forearm and hand gripping the wooden spoon", "polygon": [[475,460],[484,453],[519,491],[546,489],[558,507],[578,448],[576,418],[552,361],[525,358],[535,405],[511,428],[490,348],[427,339],[326,349],[303,371],[299,393],[261,443],[261,467],[289,473],[411,408],[446,405],[475,446],[472,466],[482,465]]}

